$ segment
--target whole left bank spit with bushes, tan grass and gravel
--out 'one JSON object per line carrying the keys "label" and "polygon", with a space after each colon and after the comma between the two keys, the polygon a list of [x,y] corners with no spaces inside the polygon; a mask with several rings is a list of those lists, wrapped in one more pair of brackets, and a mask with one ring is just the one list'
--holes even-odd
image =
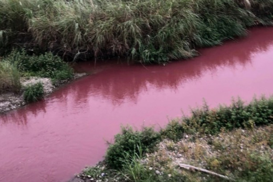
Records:
{"label": "whole left bank spit with bushes, tan grass and gravel", "polygon": [[28,55],[13,51],[0,59],[0,113],[16,109],[49,96],[61,85],[86,75],[52,53]]}

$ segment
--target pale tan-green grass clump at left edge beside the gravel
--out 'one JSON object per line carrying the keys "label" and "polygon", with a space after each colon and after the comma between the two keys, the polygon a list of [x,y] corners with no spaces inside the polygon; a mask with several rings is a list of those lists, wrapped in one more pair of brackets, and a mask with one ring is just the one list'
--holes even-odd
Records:
{"label": "pale tan-green grass clump at left edge beside the gravel", "polygon": [[21,89],[20,72],[12,62],[0,60],[0,93],[19,92]]}

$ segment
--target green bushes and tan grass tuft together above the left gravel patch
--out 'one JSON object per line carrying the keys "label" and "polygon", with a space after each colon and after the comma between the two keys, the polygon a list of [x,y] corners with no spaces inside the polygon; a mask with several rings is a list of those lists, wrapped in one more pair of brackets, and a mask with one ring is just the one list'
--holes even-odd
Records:
{"label": "green bushes and tan grass tuft together above the left gravel patch", "polygon": [[0,92],[18,93],[21,90],[21,76],[50,78],[56,83],[71,79],[73,69],[51,52],[36,56],[28,55],[25,50],[14,50],[0,59]]}

